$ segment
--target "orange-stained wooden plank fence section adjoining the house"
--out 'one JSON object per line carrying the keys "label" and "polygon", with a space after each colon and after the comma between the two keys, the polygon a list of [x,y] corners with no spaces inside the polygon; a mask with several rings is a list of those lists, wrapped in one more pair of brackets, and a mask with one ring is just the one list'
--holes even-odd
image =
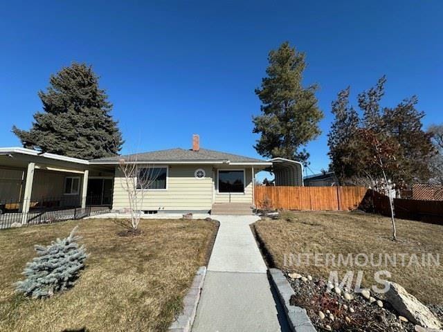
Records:
{"label": "orange-stained wooden plank fence section adjoining the house", "polygon": [[256,186],[257,209],[284,210],[355,210],[367,189],[365,187],[266,187]]}

